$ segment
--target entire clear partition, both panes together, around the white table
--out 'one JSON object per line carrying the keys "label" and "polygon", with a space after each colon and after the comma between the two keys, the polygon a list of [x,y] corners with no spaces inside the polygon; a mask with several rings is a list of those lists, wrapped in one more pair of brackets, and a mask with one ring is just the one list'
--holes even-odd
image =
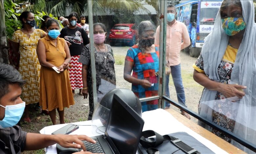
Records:
{"label": "entire clear partition, both panes together, around the white table", "polygon": [[[251,120],[255,67],[254,58],[250,58],[254,56],[245,46],[250,45],[248,40],[253,37],[248,34],[250,27],[246,27],[254,25],[252,2],[236,1],[235,5],[240,7],[237,17],[225,9],[218,13],[221,1],[187,1],[176,6],[167,6],[165,1],[116,1],[111,5],[106,1],[92,2],[89,24],[93,29],[90,35],[94,35],[90,38],[94,46],[91,52],[95,54],[92,72],[95,71],[94,81],[98,83],[94,88],[98,98],[95,102],[100,102],[115,87],[127,88],[140,98],[142,110],[147,111],[171,107],[159,97],[164,94],[254,143],[254,135],[249,135],[255,134]],[[251,7],[248,11],[251,17],[246,16],[246,20],[242,18],[241,3]],[[239,31],[228,29],[229,23]],[[216,24],[218,28],[214,29]],[[214,30],[216,33],[207,37]],[[247,42],[241,43],[245,36]],[[254,51],[254,46],[249,47]],[[227,142],[251,152],[222,132],[174,109]]]}

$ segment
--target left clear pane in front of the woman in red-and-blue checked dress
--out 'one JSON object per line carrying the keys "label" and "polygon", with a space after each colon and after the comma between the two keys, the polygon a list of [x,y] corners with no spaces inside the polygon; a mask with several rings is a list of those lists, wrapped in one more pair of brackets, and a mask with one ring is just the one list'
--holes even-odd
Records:
{"label": "left clear pane in front of the woman in red-and-blue checked dress", "polygon": [[127,88],[143,99],[143,111],[157,109],[160,50],[154,42],[160,25],[160,1],[91,3],[90,36],[94,38],[90,37],[90,46],[93,41],[94,48],[90,51],[95,54],[95,70],[89,75],[93,78],[95,71],[95,101],[99,103],[114,88]]}

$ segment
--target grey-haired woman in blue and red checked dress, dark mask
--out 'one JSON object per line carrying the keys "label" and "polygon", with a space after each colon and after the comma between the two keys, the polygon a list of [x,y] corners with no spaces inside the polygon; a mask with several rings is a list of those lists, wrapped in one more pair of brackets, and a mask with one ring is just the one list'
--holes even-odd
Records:
{"label": "grey-haired woman in blue and red checked dress, dark mask", "polygon": [[[155,41],[155,26],[142,21],[138,26],[139,43],[129,48],[124,64],[124,79],[132,83],[138,98],[158,95],[159,51]],[[131,75],[131,72],[133,74]],[[142,112],[158,108],[158,100],[141,102]]]}

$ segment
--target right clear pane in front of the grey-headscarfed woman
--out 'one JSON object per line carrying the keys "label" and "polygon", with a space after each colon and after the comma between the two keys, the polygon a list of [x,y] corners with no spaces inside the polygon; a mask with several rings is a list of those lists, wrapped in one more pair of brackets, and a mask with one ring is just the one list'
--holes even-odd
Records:
{"label": "right clear pane in front of the grey-headscarfed woman", "polygon": [[[230,10],[234,6],[236,15]],[[167,23],[166,58],[171,74],[167,78],[166,94],[169,91],[174,102],[256,147],[256,127],[252,119],[256,102],[255,33],[251,31],[255,28],[253,2],[186,1],[175,9],[176,20],[181,23]],[[168,7],[167,13],[172,10]],[[189,118],[180,109],[174,109]],[[228,134],[195,118],[191,120],[245,152],[253,153]]]}

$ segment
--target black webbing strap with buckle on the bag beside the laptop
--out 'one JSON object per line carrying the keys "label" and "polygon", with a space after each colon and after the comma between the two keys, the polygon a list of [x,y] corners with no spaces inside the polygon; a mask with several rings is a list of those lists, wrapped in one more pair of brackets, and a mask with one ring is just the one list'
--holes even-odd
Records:
{"label": "black webbing strap with buckle on the bag beside the laptop", "polygon": [[[156,136],[156,138],[148,138],[151,136]],[[157,132],[153,131],[153,130],[146,130],[142,132],[142,136],[140,138],[139,143],[146,148],[147,153],[148,154],[156,154],[158,153],[157,151],[159,151],[157,148],[155,148],[156,146],[160,145],[163,143],[163,141],[170,141],[172,142],[176,147],[178,147],[179,149],[181,149],[184,153],[186,154],[200,154],[199,151],[197,151],[196,149],[190,147],[189,145],[183,143],[180,139],[175,138],[173,136],[170,135],[160,135]]]}

